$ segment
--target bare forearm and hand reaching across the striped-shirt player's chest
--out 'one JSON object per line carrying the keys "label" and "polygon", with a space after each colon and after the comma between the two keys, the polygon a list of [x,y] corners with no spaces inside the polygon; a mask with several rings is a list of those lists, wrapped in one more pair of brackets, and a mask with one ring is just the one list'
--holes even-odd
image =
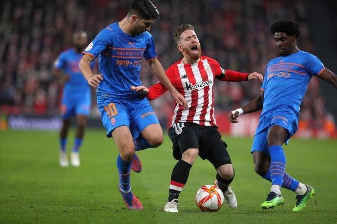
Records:
{"label": "bare forearm and hand reaching across the striped-shirt player's chest", "polygon": [[158,61],[157,58],[153,60],[145,60],[150,71],[155,75],[158,80],[169,90],[172,95],[172,98],[177,101],[181,106],[184,106],[184,109],[188,108],[188,104],[184,96],[180,94],[171,84],[169,78],[166,76],[162,64]]}

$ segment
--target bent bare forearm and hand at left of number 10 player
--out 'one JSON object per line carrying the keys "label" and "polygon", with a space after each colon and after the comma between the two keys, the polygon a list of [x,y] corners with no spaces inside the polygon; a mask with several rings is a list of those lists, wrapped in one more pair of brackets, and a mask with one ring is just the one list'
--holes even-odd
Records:
{"label": "bent bare forearm and hand at left of number 10 player", "polygon": [[92,60],[93,58],[91,56],[84,55],[80,60],[79,68],[84,78],[88,81],[88,84],[96,88],[100,85],[100,82],[103,80],[103,75],[102,74],[94,75],[92,73],[90,68],[90,63]]}

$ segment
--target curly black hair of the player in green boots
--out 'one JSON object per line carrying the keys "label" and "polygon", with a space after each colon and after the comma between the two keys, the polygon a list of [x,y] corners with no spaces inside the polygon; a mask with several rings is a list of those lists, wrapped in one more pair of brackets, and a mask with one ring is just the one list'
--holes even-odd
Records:
{"label": "curly black hair of the player in green boots", "polygon": [[270,27],[270,31],[272,34],[282,32],[289,36],[295,35],[296,38],[300,35],[299,24],[291,19],[279,19],[275,21]]}

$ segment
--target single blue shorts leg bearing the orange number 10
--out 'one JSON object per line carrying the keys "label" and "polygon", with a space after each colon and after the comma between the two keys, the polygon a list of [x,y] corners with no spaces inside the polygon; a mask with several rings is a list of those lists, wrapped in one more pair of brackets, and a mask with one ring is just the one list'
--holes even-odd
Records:
{"label": "single blue shorts leg bearing the orange number 10", "polygon": [[109,101],[105,103],[99,103],[98,109],[101,113],[102,122],[106,129],[107,137],[112,137],[111,132],[120,126],[126,126],[129,130],[130,118],[128,109],[124,104]]}

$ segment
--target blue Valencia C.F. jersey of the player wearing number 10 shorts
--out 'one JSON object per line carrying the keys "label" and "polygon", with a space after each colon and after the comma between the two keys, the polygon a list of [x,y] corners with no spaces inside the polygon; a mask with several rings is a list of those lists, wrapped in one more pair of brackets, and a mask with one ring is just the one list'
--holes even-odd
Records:
{"label": "blue Valencia C.F. jersey of the player wearing number 10 shorts", "polygon": [[94,59],[99,56],[103,81],[97,88],[98,100],[99,93],[114,100],[139,98],[130,87],[141,85],[141,58],[151,60],[157,56],[153,37],[147,31],[132,37],[124,33],[117,22],[103,29],[83,54]]}

